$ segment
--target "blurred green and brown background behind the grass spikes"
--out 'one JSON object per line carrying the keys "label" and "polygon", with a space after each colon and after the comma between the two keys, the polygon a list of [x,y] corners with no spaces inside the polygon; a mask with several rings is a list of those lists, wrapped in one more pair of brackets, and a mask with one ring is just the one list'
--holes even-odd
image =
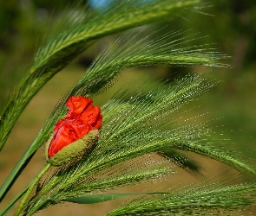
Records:
{"label": "blurred green and brown background behind the grass spikes", "polygon": [[[93,1],[94,2],[94,1]],[[147,2],[147,1],[145,1]],[[24,67],[30,64],[36,48],[50,33],[58,17],[72,3],[70,0],[9,0],[0,1],[0,109],[3,108],[7,89],[11,89],[13,81],[22,73]],[[95,1],[90,8],[98,10],[104,1]],[[187,41],[187,45],[208,44],[210,48],[227,54],[232,58],[223,60],[231,67],[213,68],[207,73],[209,79],[220,80],[209,92],[206,92],[193,106],[200,106],[196,111],[191,111],[191,117],[207,113],[201,118],[209,121],[218,136],[228,139],[233,144],[233,150],[238,152],[256,166],[256,2],[246,1],[212,1],[203,11],[205,14],[194,11],[178,14],[174,19],[166,20],[146,28],[144,35],[158,30],[158,35],[168,31],[179,31],[179,37],[195,41]],[[163,28],[164,27],[164,28]],[[159,30],[161,29],[161,30]],[[0,183],[9,175],[11,168],[22,156],[23,151],[43,126],[50,111],[56,105],[62,94],[75,81],[86,72],[95,56],[99,54],[106,44],[115,41],[118,35],[108,36],[96,42],[81,57],[72,62],[56,77],[38,92],[23,115],[16,122],[10,138],[0,153]],[[186,40],[186,39],[185,39]],[[158,79],[172,79],[177,75],[207,71],[202,67],[154,67],[131,69],[121,74],[121,78],[112,90],[111,95],[128,79],[134,79],[137,73],[154,73]],[[106,97],[104,96],[104,99]],[[102,105],[103,98],[98,98],[96,103]],[[196,104],[197,103],[197,104]],[[30,162],[28,168],[16,182],[13,189],[0,204],[6,204],[17,192],[21,190],[36,175],[43,166],[43,148],[39,149]],[[211,168],[213,172],[220,172],[224,167],[218,162],[200,158],[205,169]],[[185,177],[186,176],[186,177]],[[181,179],[194,181],[194,176],[182,173]],[[195,178],[196,179],[196,178]],[[176,182],[179,178],[176,179]],[[129,191],[125,188],[123,191]],[[122,200],[104,202],[91,206],[63,205],[49,208],[36,213],[36,215],[102,215],[108,213],[113,207],[120,205]],[[246,212],[249,213],[249,212]],[[256,212],[252,212],[255,213]]]}

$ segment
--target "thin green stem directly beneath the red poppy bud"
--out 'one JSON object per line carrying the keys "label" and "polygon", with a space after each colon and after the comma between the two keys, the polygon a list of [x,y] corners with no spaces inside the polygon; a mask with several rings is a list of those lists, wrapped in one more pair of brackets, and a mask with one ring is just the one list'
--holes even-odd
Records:
{"label": "thin green stem directly beneath the red poppy bud", "polygon": [[29,189],[27,190],[26,194],[23,195],[23,200],[21,200],[20,206],[18,206],[16,213],[14,214],[14,216],[18,216],[20,215],[20,213],[23,211],[23,207],[26,203],[26,201],[29,199],[30,194],[32,193],[34,187],[36,187],[36,184],[38,183],[38,181],[42,178],[42,176],[49,170],[51,164],[47,163],[40,171],[39,173],[36,175],[36,177],[34,178],[34,180],[31,182]]}

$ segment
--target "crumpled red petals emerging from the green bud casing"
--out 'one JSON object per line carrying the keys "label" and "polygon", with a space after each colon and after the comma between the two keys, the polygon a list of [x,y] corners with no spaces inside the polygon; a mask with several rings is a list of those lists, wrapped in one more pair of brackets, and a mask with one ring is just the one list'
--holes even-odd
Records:
{"label": "crumpled red petals emerging from the green bud casing", "polygon": [[90,130],[98,130],[102,126],[101,109],[94,107],[92,99],[70,97],[66,105],[69,111],[66,118],[55,125],[54,136],[49,143],[49,158],[63,147],[87,135]]}

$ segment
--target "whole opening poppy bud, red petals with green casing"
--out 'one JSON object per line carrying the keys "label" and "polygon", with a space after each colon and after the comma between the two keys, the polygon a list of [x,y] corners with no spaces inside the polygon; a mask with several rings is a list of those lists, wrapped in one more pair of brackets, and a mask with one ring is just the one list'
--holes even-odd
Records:
{"label": "whole opening poppy bud, red petals with green casing", "polygon": [[66,105],[69,111],[54,128],[54,134],[46,143],[46,158],[52,165],[62,165],[81,156],[99,137],[102,126],[101,109],[90,98],[70,97]]}

